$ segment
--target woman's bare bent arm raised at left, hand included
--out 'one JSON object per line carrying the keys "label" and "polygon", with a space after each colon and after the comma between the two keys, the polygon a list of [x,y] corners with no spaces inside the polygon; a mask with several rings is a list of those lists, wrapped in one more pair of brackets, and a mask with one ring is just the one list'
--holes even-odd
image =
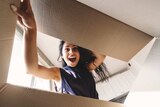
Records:
{"label": "woman's bare bent arm raised at left, hand included", "polygon": [[60,79],[60,70],[57,67],[46,68],[38,65],[37,55],[37,27],[30,0],[23,0],[20,7],[10,4],[11,10],[18,16],[18,22],[24,29],[24,60],[28,73],[45,79]]}

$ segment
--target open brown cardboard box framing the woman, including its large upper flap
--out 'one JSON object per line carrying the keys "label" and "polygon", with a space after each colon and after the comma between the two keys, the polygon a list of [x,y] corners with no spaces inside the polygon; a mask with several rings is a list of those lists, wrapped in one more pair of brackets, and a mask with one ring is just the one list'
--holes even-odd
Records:
{"label": "open brown cardboard box framing the woman, including its large upper flap", "polygon": [[[10,3],[0,1],[0,107],[123,107],[122,104],[56,94],[6,83],[16,17]],[[75,0],[32,0],[38,30],[124,61],[152,37]]]}

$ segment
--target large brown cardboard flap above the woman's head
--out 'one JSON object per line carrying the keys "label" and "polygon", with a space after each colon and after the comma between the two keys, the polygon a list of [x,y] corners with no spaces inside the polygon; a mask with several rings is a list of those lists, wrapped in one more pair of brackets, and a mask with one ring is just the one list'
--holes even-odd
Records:
{"label": "large brown cardboard flap above the woman's head", "polygon": [[76,0],[32,0],[42,33],[128,61],[152,37]]}

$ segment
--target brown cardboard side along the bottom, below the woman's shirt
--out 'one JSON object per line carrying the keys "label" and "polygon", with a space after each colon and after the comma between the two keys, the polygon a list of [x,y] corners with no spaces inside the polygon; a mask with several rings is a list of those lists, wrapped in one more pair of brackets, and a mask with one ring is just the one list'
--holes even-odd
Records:
{"label": "brown cardboard side along the bottom, below the woman's shirt", "polygon": [[0,107],[124,107],[91,98],[56,94],[6,84],[0,93]]}

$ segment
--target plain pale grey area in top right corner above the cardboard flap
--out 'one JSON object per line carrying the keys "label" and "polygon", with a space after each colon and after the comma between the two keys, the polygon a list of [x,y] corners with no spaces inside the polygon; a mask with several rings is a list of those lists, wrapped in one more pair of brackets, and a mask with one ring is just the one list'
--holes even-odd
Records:
{"label": "plain pale grey area in top right corner above the cardboard flap", "polygon": [[77,0],[151,36],[160,37],[160,0]]}

